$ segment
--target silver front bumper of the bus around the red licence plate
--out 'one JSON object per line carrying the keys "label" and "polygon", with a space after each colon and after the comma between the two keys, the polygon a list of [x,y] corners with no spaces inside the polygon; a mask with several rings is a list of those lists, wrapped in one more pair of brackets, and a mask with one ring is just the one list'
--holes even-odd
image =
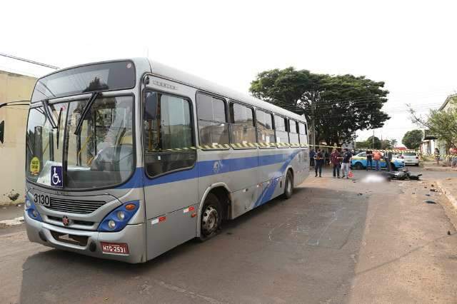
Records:
{"label": "silver front bumper of the bus around the red licence plate", "polygon": [[[119,232],[99,232],[89,230],[76,230],[49,223],[35,221],[24,212],[27,236],[31,242],[40,243],[52,248],[72,251],[96,258],[120,260],[126,263],[146,262],[146,250],[144,242],[144,224],[127,225]],[[61,236],[64,238],[60,238]],[[74,241],[72,238],[81,240]],[[128,254],[106,253],[101,243],[124,243],[128,245]]]}

